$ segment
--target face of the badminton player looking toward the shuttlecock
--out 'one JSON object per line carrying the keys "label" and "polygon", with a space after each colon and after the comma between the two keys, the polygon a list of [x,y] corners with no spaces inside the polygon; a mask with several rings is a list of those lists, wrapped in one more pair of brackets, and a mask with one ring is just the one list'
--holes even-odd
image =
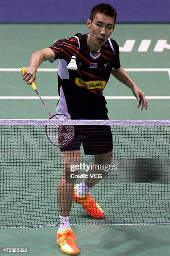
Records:
{"label": "face of the badminton player looking toward the shuttlecock", "polygon": [[87,20],[87,27],[90,28],[90,37],[96,46],[102,46],[114,30],[115,20],[113,17],[102,13],[96,13],[92,23]]}

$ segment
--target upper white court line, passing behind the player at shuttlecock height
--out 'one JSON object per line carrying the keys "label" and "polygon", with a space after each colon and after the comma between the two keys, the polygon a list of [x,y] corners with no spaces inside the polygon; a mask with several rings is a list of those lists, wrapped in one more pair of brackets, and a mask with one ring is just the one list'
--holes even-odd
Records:
{"label": "upper white court line, passing behind the player at shuttlecock height", "polygon": [[[20,72],[21,69],[0,69],[0,72]],[[58,69],[37,69],[38,72],[57,72]],[[170,68],[130,68],[126,69],[128,72],[170,72]]]}

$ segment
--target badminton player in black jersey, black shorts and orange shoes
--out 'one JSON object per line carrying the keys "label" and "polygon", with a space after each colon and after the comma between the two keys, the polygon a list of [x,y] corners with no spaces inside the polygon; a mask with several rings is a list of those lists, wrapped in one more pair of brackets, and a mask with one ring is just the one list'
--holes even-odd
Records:
{"label": "badminton player in black jersey, black shorts and orange shoes", "polygon": [[[57,114],[64,114],[70,119],[108,119],[105,97],[102,91],[112,74],[120,82],[128,86],[138,100],[138,108],[148,109],[145,94],[138,88],[120,65],[119,47],[110,39],[115,28],[116,10],[108,4],[99,4],[92,8],[87,20],[89,33],[77,33],[71,38],[56,41],[52,46],[32,54],[30,66],[25,69],[23,79],[31,84],[35,81],[37,68],[42,61],[54,62],[59,59],[58,89],[60,100],[57,103]],[[72,56],[76,57],[77,70],[67,69]],[[112,134],[110,127],[98,128],[98,136],[88,137],[83,143],[85,154],[91,154],[107,164],[112,159]],[[78,131],[75,131],[75,136]],[[84,132],[83,132],[84,133]],[[92,133],[91,133],[92,134]],[[102,135],[101,135],[102,134]],[[107,138],[106,138],[107,136]],[[107,146],[105,140],[107,139]],[[89,141],[88,141],[89,140]],[[89,147],[90,141],[95,147]],[[70,175],[70,164],[80,162],[80,144],[83,139],[74,139],[69,145],[61,148],[64,170],[57,189],[60,209],[60,228],[57,231],[57,244],[62,253],[77,255],[80,253],[75,240],[75,233],[70,227],[70,209],[75,201],[93,218],[103,218],[105,213],[90,195],[90,189],[97,183],[84,179],[80,184],[67,182]]]}

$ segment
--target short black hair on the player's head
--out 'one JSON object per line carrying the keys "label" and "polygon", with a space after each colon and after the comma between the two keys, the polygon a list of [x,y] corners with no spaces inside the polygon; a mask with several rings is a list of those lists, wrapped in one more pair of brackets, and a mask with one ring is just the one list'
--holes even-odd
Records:
{"label": "short black hair on the player's head", "polygon": [[92,20],[95,18],[96,13],[102,13],[105,14],[106,16],[110,16],[113,17],[115,22],[116,22],[116,18],[117,18],[117,12],[116,9],[113,8],[111,5],[106,4],[106,3],[100,3],[98,5],[95,5],[91,12],[90,12],[90,20],[92,22]]}

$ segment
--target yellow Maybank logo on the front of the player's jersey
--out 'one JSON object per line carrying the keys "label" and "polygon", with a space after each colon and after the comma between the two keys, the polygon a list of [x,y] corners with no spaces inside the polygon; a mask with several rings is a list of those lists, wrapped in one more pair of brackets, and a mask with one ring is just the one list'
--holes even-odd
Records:
{"label": "yellow Maybank logo on the front of the player's jersey", "polygon": [[77,78],[76,77],[75,84],[77,84],[79,86],[84,86],[88,90],[91,90],[91,89],[104,89],[105,85],[106,85],[106,81],[100,81],[99,80],[99,81],[88,81],[88,82],[85,82],[81,78]]}

